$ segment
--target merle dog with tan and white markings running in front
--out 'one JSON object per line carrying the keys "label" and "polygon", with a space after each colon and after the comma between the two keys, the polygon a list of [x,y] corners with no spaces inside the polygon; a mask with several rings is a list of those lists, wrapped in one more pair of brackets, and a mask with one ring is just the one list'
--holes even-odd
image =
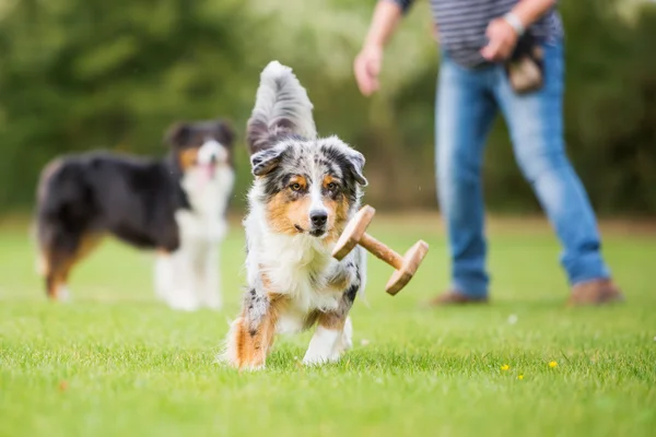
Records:
{"label": "merle dog with tan and white markings running in front", "polygon": [[248,287],[220,355],[233,367],[263,367],[276,333],[315,323],[305,364],[335,362],[351,347],[349,311],[364,288],[365,253],[358,247],[337,261],[331,250],[360,208],[364,157],[337,137],[318,138],[312,109],[290,68],[265,68],[247,125]]}

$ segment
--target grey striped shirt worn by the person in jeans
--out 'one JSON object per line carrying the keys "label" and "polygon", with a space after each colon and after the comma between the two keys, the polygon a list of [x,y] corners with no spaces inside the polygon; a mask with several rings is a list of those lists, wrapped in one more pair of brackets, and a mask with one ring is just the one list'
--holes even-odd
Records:
{"label": "grey striped shirt worn by the person in jeans", "polygon": [[[389,0],[383,0],[389,1]],[[403,13],[413,0],[391,0]],[[430,0],[433,20],[437,24],[440,45],[458,63],[479,67],[487,63],[480,49],[488,44],[488,24],[503,16],[519,0]],[[539,42],[554,40],[563,35],[563,25],[555,8],[535,22],[530,31]]]}

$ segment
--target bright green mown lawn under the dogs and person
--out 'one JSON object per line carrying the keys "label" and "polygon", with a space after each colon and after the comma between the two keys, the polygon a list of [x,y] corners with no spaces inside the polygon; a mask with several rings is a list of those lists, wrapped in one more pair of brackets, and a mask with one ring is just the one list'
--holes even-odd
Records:
{"label": "bright green mown lawn under the dogs and person", "polygon": [[653,435],[653,232],[604,229],[624,305],[565,309],[554,237],[515,221],[491,226],[490,306],[421,309],[447,285],[441,229],[376,218],[382,240],[401,250],[424,238],[431,251],[396,297],[383,292],[390,269],[370,259],[368,306],[352,311],[355,346],[341,363],[302,367],[305,333],[280,339],[265,371],[238,374],[214,364],[238,309],[238,225],[223,248],[226,308],[194,314],[155,302],[150,258],[116,243],[75,272],[72,304],[49,304],[25,229],[5,227],[0,436]]}

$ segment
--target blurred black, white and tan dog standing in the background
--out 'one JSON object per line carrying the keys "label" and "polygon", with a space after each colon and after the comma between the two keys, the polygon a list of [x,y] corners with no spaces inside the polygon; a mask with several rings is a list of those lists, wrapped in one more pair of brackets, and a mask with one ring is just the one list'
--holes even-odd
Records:
{"label": "blurred black, white and tan dog standing in the background", "polygon": [[66,299],[71,269],[109,234],[156,251],[155,291],[171,307],[220,308],[218,245],[233,190],[233,137],[224,120],[179,122],[162,160],[102,151],[48,164],[36,208],[47,295]]}

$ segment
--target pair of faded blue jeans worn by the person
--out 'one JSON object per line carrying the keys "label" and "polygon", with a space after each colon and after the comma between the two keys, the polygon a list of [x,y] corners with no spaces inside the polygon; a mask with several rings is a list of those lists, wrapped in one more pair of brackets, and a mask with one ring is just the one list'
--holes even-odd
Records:
{"label": "pair of faded blue jeans worn by the person", "polygon": [[515,158],[563,247],[571,285],[610,276],[587,193],[565,154],[562,119],[563,47],[544,45],[544,85],[517,95],[503,67],[467,69],[442,55],[437,85],[437,189],[452,258],[452,287],[488,294],[481,165],[497,109]]}

